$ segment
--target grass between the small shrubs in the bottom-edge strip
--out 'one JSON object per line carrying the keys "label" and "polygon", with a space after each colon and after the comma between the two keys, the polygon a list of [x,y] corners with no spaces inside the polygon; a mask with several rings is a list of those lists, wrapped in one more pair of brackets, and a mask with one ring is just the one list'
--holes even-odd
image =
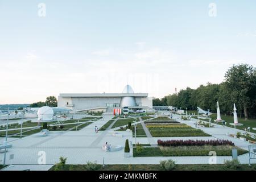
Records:
{"label": "grass between the small shrubs in the bottom-edge strip", "polygon": [[[50,171],[53,171],[53,166]],[[102,165],[98,164],[98,171],[161,171],[159,164],[112,164]],[[173,171],[229,171],[223,164],[177,164]],[[241,164],[237,171],[255,171],[256,164],[248,166],[248,164]],[[86,165],[70,165],[64,166],[63,171],[87,171]],[[233,170],[232,170],[233,171]]]}

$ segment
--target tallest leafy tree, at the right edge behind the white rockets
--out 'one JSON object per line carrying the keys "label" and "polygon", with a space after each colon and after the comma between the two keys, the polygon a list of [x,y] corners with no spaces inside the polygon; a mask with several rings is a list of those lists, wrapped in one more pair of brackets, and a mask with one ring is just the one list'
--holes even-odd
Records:
{"label": "tallest leafy tree, at the right edge behind the white rockets", "polygon": [[251,91],[256,87],[256,69],[248,64],[233,65],[225,73],[225,82],[232,100],[236,101],[247,119],[247,108],[255,105],[255,97],[251,97]]}

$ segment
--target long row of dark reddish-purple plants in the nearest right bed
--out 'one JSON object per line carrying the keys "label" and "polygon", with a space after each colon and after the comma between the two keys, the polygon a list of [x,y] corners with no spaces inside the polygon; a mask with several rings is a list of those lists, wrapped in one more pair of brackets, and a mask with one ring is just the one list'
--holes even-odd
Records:
{"label": "long row of dark reddish-purple plants in the nearest right bed", "polygon": [[159,146],[176,147],[176,146],[234,146],[234,143],[229,140],[158,140]]}

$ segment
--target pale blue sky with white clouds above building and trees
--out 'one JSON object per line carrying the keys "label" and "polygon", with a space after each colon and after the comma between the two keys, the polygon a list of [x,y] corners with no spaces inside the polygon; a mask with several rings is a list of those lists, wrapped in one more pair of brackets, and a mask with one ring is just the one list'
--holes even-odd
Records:
{"label": "pale blue sky with white clouds above building and trees", "polygon": [[256,63],[256,1],[0,0],[0,104],[224,81]]}

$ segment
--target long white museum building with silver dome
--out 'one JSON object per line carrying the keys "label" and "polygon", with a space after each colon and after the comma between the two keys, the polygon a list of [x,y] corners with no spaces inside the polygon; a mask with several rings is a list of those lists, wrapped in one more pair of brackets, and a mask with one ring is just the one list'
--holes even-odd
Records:
{"label": "long white museum building with silver dome", "polygon": [[124,90],[127,90],[127,93],[61,93],[58,97],[58,107],[64,107],[75,111],[90,109],[106,111],[108,108],[126,106],[152,108],[152,100],[148,98],[147,93],[133,93],[133,90],[129,85],[126,85]]}

